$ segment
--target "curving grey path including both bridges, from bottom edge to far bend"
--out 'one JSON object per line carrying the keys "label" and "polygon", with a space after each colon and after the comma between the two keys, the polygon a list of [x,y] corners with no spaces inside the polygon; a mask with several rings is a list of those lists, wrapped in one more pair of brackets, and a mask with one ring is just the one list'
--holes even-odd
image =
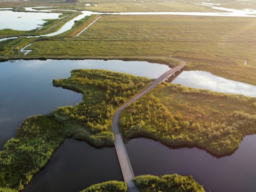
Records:
{"label": "curving grey path including both bridges, from bottom edge to far bend", "polygon": [[119,160],[119,163],[120,163],[120,168],[121,168],[121,171],[122,171],[124,181],[128,185],[128,192],[139,192],[139,190],[136,187],[136,184],[132,181],[132,179],[134,178],[134,173],[133,173],[133,170],[132,170],[129,158],[128,158],[128,154],[127,154],[126,149],[125,149],[125,145],[123,143],[122,136],[119,133],[119,128],[118,128],[119,116],[120,116],[121,111],[123,109],[125,109],[129,104],[132,104],[134,101],[136,101],[140,97],[147,94],[150,90],[155,88],[158,84],[167,80],[168,77],[173,75],[175,72],[180,71],[186,65],[186,62],[184,60],[181,60],[181,59],[178,59],[178,58],[175,58],[175,57],[168,57],[168,58],[176,59],[177,61],[180,61],[182,64],[180,64],[180,65],[168,70],[167,72],[163,73],[158,79],[154,80],[153,83],[148,88],[146,88],[143,92],[141,92],[140,94],[138,94],[137,96],[135,96],[134,98],[129,100],[127,103],[123,104],[114,113],[114,116],[113,116],[113,119],[112,119],[112,131],[113,131],[114,136],[115,136],[115,148],[116,148],[116,152],[117,152],[117,156],[118,156],[118,160]]}

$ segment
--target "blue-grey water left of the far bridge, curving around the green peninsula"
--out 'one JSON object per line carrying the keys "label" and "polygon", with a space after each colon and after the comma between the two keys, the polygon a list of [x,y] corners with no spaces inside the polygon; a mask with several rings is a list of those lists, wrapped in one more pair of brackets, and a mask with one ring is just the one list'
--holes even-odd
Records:
{"label": "blue-grey water left of the far bridge, curving around the green peninsula", "polygon": [[70,77],[72,69],[106,69],[157,78],[169,68],[148,62],[103,60],[30,60],[0,63],[0,150],[15,136],[28,116],[80,103],[82,95],[52,86],[53,79]]}

